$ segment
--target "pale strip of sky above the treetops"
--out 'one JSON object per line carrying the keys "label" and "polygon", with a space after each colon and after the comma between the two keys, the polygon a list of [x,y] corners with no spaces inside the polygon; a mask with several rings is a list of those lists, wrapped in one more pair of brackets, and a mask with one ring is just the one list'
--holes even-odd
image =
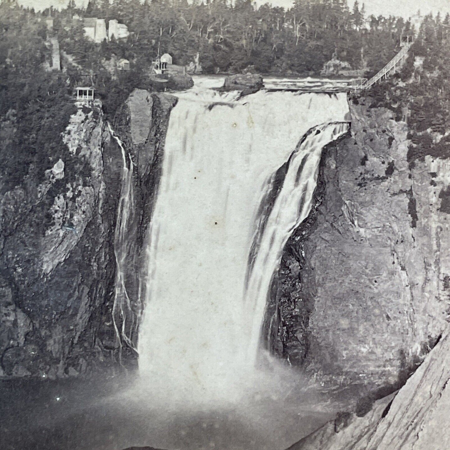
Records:
{"label": "pale strip of sky above the treetops", "polygon": [[[1,0],[0,0],[1,1]],[[25,7],[30,6],[34,9],[45,9],[50,5],[55,8],[65,6],[68,0],[18,0]],[[78,5],[87,4],[88,0],[76,0]],[[350,8],[353,6],[354,0],[347,0]],[[257,5],[267,3],[267,0],[257,0]],[[269,3],[274,6],[284,6],[289,8],[293,4],[293,0],[270,0]],[[365,3],[366,13],[383,14],[384,16],[395,15],[408,18],[417,13],[420,9],[421,14],[428,14],[438,11],[445,14],[450,12],[450,0],[360,0],[360,4]]]}

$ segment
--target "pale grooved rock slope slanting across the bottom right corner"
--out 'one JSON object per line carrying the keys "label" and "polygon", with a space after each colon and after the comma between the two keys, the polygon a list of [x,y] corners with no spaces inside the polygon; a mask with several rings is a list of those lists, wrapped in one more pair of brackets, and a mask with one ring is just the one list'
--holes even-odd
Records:
{"label": "pale grooved rock slope slanting across the bottom right corner", "polygon": [[450,338],[442,338],[401,390],[364,417],[337,417],[289,450],[419,450],[450,447]]}

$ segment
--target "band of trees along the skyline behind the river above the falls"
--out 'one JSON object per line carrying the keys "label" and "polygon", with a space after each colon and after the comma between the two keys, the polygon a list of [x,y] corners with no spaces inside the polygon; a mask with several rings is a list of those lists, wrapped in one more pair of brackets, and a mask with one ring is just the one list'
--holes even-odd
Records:
{"label": "band of trees along the skyline behind the river above the falls", "polygon": [[[247,67],[261,73],[317,74],[335,55],[354,69],[376,71],[380,61],[394,54],[401,32],[410,25],[402,18],[370,16],[364,4],[352,9],[347,0],[296,0],[291,9],[250,0],[90,0],[85,10],[73,3],[67,9],[45,10],[75,61],[86,64],[99,58],[98,45],[80,39],[83,17],[116,18],[131,31],[126,42],[102,46],[102,54],[119,53],[140,67],[168,52],[174,63],[185,65],[199,54],[203,72],[241,72]],[[64,45],[63,45],[64,47]]]}

